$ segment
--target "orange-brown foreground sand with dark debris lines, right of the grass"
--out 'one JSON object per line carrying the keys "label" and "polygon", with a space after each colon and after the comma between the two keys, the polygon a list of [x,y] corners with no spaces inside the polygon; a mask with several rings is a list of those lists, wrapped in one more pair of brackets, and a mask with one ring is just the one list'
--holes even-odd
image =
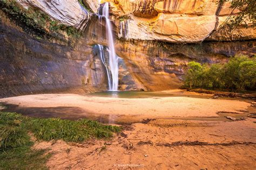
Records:
{"label": "orange-brown foreground sand with dark debris lines, right of the grass", "polygon": [[193,125],[133,124],[110,141],[37,143],[50,148],[50,169],[255,169],[253,119]]}

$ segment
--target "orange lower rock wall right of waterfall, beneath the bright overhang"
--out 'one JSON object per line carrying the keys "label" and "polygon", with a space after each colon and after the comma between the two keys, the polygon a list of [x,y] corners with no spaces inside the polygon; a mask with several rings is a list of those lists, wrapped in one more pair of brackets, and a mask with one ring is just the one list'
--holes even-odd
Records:
{"label": "orange lower rock wall right of waterfall, beneath the bright overhang", "polygon": [[116,51],[125,61],[136,87],[144,90],[166,90],[181,86],[188,62],[225,63],[236,54],[254,55],[255,45],[255,41],[172,44],[131,40],[117,42]]}

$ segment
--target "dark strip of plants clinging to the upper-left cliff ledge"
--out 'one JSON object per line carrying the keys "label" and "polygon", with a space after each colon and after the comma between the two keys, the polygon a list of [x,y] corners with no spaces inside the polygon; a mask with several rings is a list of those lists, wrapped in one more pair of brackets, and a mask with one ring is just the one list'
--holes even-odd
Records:
{"label": "dark strip of plants clinging to the upper-left cliff ledge", "polygon": [[24,31],[29,32],[31,29],[36,31],[38,33],[36,37],[58,37],[58,34],[66,33],[71,38],[79,38],[82,34],[75,27],[61,24],[41,10],[25,9],[14,0],[1,0],[0,6],[12,20],[15,20],[16,23],[22,23],[30,29],[25,28]]}

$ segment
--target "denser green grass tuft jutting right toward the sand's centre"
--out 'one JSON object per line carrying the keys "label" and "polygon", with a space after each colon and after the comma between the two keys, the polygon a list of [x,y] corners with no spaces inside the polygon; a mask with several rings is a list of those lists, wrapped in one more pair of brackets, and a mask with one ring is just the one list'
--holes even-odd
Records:
{"label": "denser green grass tuft jutting right toward the sand's centre", "polygon": [[113,132],[119,132],[118,126],[100,124],[88,119],[69,121],[59,118],[32,119],[28,128],[39,140],[62,139],[70,142],[82,142],[89,138],[110,138]]}

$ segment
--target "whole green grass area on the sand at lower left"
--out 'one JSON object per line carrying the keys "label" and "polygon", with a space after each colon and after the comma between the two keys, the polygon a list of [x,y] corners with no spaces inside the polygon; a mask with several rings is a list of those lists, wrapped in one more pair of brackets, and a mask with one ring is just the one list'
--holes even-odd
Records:
{"label": "whole green grass area on the sand at lower left", "polygon": [[44,169],[50,154],[33,150],[31,136],[45,141],[82,142],[90,138],[110,138],[120,128],[87,119],[31,118],[0,112],[0,131],[0,169]]}

